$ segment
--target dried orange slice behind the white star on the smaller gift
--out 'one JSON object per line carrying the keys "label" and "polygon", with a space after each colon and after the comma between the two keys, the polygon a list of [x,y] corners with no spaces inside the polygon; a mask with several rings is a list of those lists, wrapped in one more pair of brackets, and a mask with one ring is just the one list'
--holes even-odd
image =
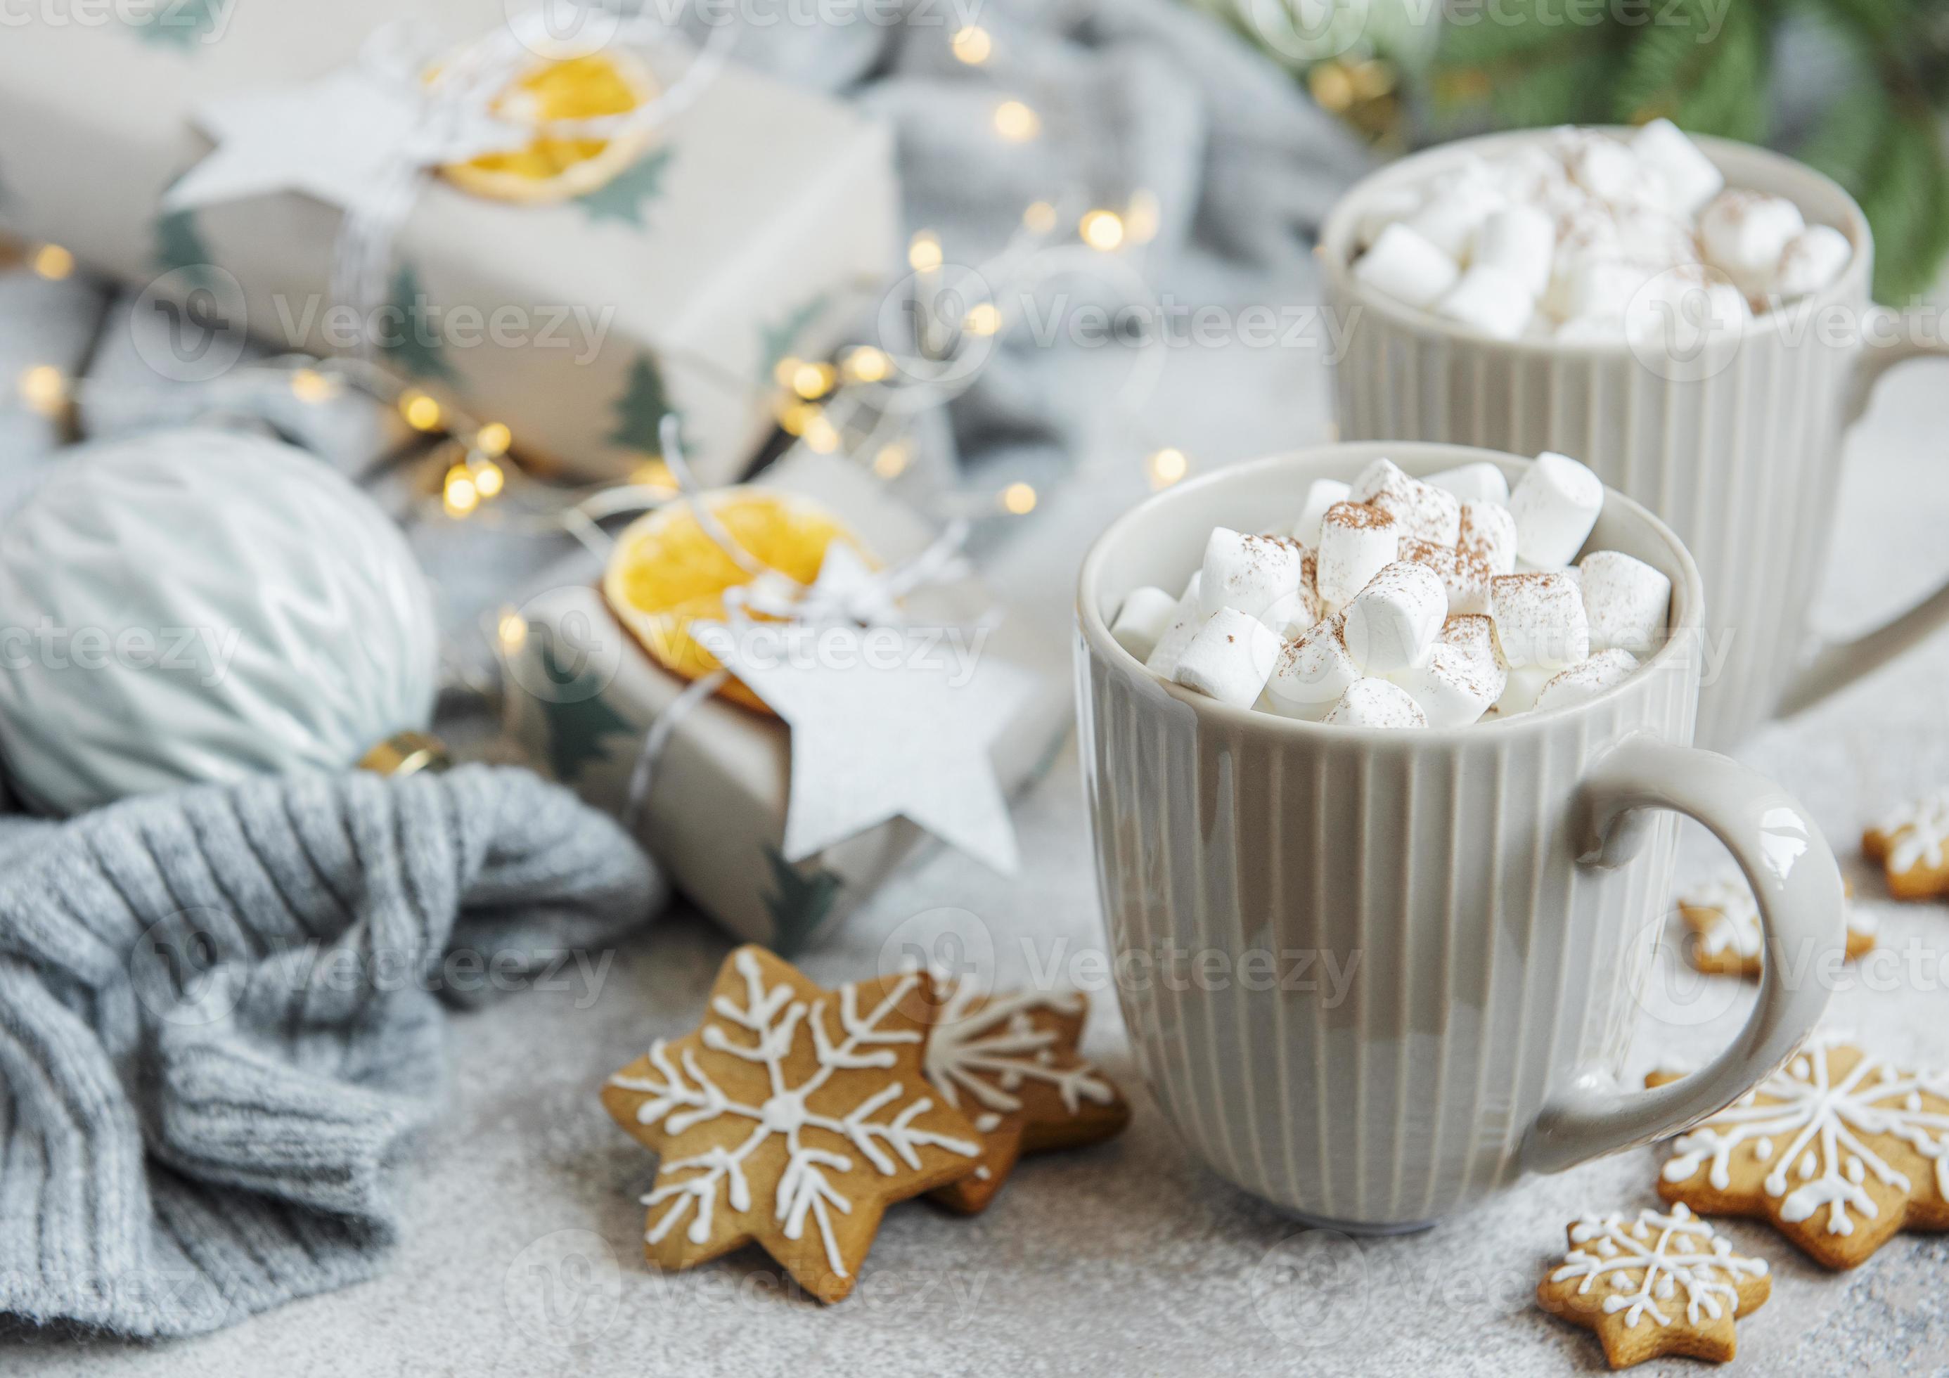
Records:
{"label": "dried orange slice behind the white star on the smaller gift", "polygon": [[[826,546],[836,540],[860,552],[869,565],[877,563],[838,517],[809,497],[743,485],[706,493],[702,501],[758,563],[799,583],[819,577]],[[719,665],[690,635],[690,624],[723,620],[725,591],[748,583],[750,575],[698,524],[690,503],[670,503],[639,517],[616,538],[602,573],[602,596],[657,665],[698,680]],[[735,678],[719,694],[760,713],[770,711]]]}

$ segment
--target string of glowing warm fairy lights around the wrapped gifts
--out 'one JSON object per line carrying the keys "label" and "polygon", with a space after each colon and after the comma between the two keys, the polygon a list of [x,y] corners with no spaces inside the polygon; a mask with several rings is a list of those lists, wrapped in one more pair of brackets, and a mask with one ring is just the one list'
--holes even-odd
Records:
{"label": "string of glowing warm fairy lights around the wrapped gifts", "polygon": [[[998,39],[980,25],[947,35],[955,60],[980,68],[994,55]],[[1015,96],[1002,96],[988,113],[992,131],[1004,144],[1027,144],[1045,136],[1045,117]],[[1160,226],[1160,203],[1148,189],[1134,191],[1121,207],[1088,205],[1080,197],[1037,199],[1019,218],[1017,234],[988,261],[965,269],[947,261],[947,249],[934,230],[916,230],[906,246],[912,269],[912,296],[922,322],[912,351],[861,343],[832,361],[787,355],[778,361],[764,400],[797,444],[821,454],[840,454],[865,466],[881,479],[900,478],[914,458],[912,419],[930,405],[941,405],[967,386],[978,364],[965,368],[965,345],[992,347],[1012,322],[1006,300],[1021,298],[1039,279],[1035,257],[1049,251],[1119,255],[1150,244]],[[1068,228],[1066,228],[1068,226]],[[43,279],[60,281],[76,271],[74,255],[58,244],[37,244],[25,251],[27,267]],[[1134,281],[1140,283],[1140,277]],[[965,292],[973,283],[978,290]],[[1142,290],[1148,292],[1148,287]],[[974,296],[974,300],[967,300]],[[939,320],[941,304],[959,310],[955,320]],[[928,331],[939,339],[928,341]],[[676,495],[676,485],[661,458],[645,452],[643,462],[622,481],[565,487],[524,472],[516,458],[516,437],[509,425],[470,415],[452,400],[442,400],[384,368],[351,357],[312,359],[287,355],[232,368],[226,378],[263,376],[283,380],[304,403],[324,405],[345,392],[359,392],[398,411],[415,433],[437,437],[444,456],[439,489],[429,493],[429,511],[448,520],[493,520],[499,526],[561,532],[596,544],[598,520],[631,507],[653,507]],[[64,417],[84,400],[86,378],[68,376],[58,364],[29,364],[16,380],[21,405]],[[1132,409],[1130,423],[1146,431]],[[1144,476],[1152,487],[1169,487],[1191,472],[1191,458],[1175,444],[1148,444]],[[520,501],[511,499],[518,495]],[[953,491],[941,495],[951,507],[943,515],[980,511],[1025,517],[1037,509],[1041,493],[1023,478],[992,491]]]}

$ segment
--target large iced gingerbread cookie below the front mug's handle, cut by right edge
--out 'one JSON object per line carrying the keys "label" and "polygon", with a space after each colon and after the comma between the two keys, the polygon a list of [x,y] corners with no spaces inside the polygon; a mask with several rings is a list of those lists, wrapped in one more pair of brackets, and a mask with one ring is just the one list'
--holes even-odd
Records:
{"label": "large iced gingerbread cookie below the front mug's handle, cut by right edge", "polygon": [[1902,1228],[1949,1230],[1949,1076],[1834,1037],[1811,1039],[1672,1148],[1661,1197],[1766,1218],[1830,1269],[1852,1269]]}

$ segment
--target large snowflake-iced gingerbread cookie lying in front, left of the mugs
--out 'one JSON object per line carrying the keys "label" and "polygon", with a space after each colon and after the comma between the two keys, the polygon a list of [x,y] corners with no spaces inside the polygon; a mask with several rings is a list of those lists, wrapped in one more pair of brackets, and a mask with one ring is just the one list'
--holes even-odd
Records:
{"label": "large snowflake-iced gingerbread cookie lying in front, left of the mugs", "polygon": [[891,1203],[974,1169],[974,1127],[928,1086],[926,980],[822,990],[762,947],[725,959],[704,1025],[602,1088],[663,1158],[643,1197],[651,1263],[686,1269],[758,1242],[836,1302]]}

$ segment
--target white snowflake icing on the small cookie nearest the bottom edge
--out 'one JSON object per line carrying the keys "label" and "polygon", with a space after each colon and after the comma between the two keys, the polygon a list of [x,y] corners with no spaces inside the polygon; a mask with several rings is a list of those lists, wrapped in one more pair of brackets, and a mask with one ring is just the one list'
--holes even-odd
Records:
{"label": "white snowflake icing on the small cookie nearest the bottom edge", "polygon": [[1766,1277],[1766,1259],[1733,1253],[1731,1240],[1682,1205],[1670,1214],[1647,1206],[1629,1226],[1618,1214],[1586,1214],[1571,1228],[1571,1244],[1590,1247],[1565,1253],[1563,1267],[1549,1281],[1583,1279],[1577,1292],[1586,1294],[1600,1277],[1608,1279],[1612,1296],[1604,1298],[1604,1314],[1624,1312],[1625,1329],[1637,1329],[1645,1316],[1670,1325],[1672,1318],[1659,1302],[1672,1300],[1680,1286],[1686,1288],[1690,1323],[1698,1325],[1701,1316],[1737,1316],[1739,1279]]}

